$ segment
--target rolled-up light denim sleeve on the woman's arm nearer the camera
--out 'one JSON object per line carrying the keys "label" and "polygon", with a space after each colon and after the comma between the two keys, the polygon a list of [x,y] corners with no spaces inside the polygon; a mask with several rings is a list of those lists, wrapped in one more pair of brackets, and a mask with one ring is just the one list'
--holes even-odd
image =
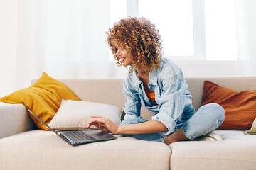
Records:
{"label": "rolled-up light denim sleeve on the woman's arm nearer the camera", "polygon": [[163,79],[161,86],[159,113],[154,115],[152,120],[163,123],[168,128],[166,135],[170,135],[175,130],[177,120],[181,119],[186,104],[186,90],[188,86],[178,76]]}

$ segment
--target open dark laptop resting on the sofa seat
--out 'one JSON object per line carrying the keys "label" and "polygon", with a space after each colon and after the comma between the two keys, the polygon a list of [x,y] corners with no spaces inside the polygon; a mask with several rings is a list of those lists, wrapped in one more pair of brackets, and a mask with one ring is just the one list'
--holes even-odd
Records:
{"label": "open dark laptop resting on the sofa seat", "polygon": [[[32,113],[31,110],[28,109],[28,111],[36,119],[41,121],[43,125],[46,125],[46,123],[44,123],[43,120],[41,120],[40,118],[38,118],[38,116]],[[117,138],[114,135],[108,134],[106,132],[102,132],[101,130],[78,130],[78,131],[68,131],[68,132],[57,132],[53,128],[50,128],[49,125],[46,125],[46,127],[49,128],[51,131],[55,132],[56,135],[58,135],[61,139],[65,140],[65,142],[67,142],[70,145],[81,145],[81,144],[87,144],[91,142],[114,140]]]}

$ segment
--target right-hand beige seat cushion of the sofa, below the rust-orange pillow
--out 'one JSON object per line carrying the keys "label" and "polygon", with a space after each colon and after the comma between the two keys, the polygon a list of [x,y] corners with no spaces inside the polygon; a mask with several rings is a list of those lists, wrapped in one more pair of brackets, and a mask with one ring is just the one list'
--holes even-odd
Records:
{"label": "right-hand beige seat cushion of the sofa, below the rust-orange pillow", "polygon": [[171,170],[255,169],[256,135],[240,130],[215,130],[222,141],[176,142],[171,148]]}

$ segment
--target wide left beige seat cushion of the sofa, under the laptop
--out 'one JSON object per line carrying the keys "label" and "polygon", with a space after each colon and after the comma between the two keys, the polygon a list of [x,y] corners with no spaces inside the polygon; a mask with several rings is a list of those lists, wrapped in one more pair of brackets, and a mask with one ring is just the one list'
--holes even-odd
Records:
{"label": "wide left beige seat cushion of the sofa, under the laptop", "polygon": [[171,157],[161,142],[119,137],[73,147],[43,130],[3,138],[0,148],[0,169],[5,170],[169,169]]}

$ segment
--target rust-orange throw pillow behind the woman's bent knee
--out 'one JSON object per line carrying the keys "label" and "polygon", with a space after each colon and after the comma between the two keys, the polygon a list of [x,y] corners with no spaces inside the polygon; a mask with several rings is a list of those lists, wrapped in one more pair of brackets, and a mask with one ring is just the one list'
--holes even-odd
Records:
{"label": "rust-orange throw pillow behind the woman's bent knee", "polygon": [[247,130],[256,118],[256,91],[234,91],[210,81],[204,82],[203,105],[218,103],[225,120],[218,130]]}

